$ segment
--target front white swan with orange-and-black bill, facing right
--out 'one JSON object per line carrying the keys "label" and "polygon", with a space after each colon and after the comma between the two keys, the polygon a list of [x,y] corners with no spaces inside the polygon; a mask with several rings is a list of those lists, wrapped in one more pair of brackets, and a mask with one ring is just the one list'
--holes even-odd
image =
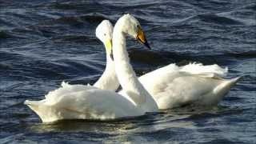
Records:
{"label": "front white swan with orange-and-black bill, facing right", "polygon": [[114,65],[116,74],[126,91],[126,95],[101,90],[94,86],[69,85],[62,82],[62,87],[50,91],[41,101],[24,103],[34,110],[42,122],[54,122],[61,119],[114,119],[143,115],[158,111],[154,99],[143,88],[129,64],[125,47],[125,35],[146,38],[138,21],[130,15],[120,18],[114,27]]}

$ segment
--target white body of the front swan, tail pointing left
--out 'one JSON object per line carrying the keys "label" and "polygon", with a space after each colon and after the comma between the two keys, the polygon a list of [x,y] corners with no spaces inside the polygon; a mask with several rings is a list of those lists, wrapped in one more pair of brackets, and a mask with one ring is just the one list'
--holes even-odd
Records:
{"label": "white body of the front swan, tail pointing left", "polygon": [[133,102],[110,90],[94,86],[69,85],[50,91],[41,101],[25,101],[42,122],[61,119],[98,119],[135,117],[144,114]]}

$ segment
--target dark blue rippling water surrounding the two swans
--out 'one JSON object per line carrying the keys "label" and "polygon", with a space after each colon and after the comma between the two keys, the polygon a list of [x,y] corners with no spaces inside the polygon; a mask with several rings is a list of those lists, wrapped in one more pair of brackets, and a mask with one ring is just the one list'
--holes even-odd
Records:
{"label": "dark blue rippling water surrounding the two swans", "polygon": [[[0,0],[0,143],[256,143],[256,4],[245,1]],[[129,41],[138,74],[170,62],[228,66],[243,76],[219,106],[181,108],[114,122],[42,124],[22,102],[70,83],[94,83],[105,67],[94,36],[124,13],[153,50]]]}

